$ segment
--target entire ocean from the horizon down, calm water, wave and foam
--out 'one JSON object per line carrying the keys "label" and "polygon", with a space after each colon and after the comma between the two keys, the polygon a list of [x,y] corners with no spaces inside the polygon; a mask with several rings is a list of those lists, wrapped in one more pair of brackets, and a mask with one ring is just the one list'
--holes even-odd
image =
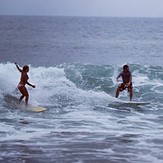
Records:
{"label": "entire ocean from the horizon down, calm water, wave and foam", "polygon": [[[29,65],[29,103],[18,109]],[[128,64],[133,101],[115,98]],[[162,163],[163,18],[0,16],[0,162]]]}

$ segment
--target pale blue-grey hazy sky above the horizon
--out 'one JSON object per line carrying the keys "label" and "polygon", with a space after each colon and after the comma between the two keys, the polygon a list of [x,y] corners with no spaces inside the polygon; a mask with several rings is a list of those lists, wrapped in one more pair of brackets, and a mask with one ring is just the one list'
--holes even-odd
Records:
{"label": "pale blue-grey hazy sky above the horizon", "polygon": [[163,17],[163,0],[0,0],[0,15]]}

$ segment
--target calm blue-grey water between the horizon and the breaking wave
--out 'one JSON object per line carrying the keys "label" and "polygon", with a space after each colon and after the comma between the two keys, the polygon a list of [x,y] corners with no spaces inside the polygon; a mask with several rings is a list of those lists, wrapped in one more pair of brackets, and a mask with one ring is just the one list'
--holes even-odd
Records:
{"label": "calm blue-grey water between the horizon and the breaking wave", "polygon": [[0,17],[1,62],[162,65],[162,18]]}

